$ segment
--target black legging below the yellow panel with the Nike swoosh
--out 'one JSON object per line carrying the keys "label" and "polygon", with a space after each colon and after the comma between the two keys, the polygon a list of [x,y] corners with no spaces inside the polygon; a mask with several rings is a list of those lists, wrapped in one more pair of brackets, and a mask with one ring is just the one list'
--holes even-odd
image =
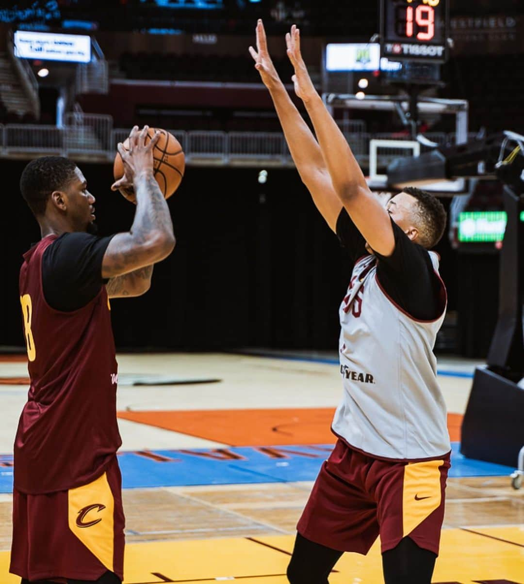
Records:
{"label": "black legging below the yellow panel with the Nike swoosh", "polygon": [[430,584],[436,554],[424,550],[405,537],[392,550],[382,554],[385,584]]}

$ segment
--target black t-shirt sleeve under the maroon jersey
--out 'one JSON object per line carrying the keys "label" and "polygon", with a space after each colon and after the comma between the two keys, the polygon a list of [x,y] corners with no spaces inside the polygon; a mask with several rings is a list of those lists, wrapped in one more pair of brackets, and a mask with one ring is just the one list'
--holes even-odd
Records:
{"label": "black t-shirt sleeve under the maroon jersey", "polygon": [[51,308],[78,310],[99,293],[108,281],[102,278],[102,259],[111,238],[64,233],[44,251],[42,286]]}

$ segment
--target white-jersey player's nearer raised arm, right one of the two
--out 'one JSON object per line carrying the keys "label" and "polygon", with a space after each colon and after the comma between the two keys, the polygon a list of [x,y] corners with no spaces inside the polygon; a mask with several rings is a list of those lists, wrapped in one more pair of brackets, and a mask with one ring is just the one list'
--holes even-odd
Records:
{"label": "white-jersey player's nearer raised arm, right one of the two", "polygon": [[381,255],[391,255],[395,238],[388,212],[368,188],[346,138],[313,86],[300,52],[300,32],[295,25],[286,35],[286,41],[287,54],[295,69],[295,92],[311,117],[335,193],[371,248]]}

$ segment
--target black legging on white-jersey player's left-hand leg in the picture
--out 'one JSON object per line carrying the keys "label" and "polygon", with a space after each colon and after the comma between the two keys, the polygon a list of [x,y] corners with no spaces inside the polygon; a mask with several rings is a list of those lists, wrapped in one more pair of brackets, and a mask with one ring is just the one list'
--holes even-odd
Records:
{"label": "black legging on white-jersey player's left-hand leg in the picture", "polygon": [[297,533],[287,576],[291,584],[328,584],[329,572],[342,551],[316,544]]}

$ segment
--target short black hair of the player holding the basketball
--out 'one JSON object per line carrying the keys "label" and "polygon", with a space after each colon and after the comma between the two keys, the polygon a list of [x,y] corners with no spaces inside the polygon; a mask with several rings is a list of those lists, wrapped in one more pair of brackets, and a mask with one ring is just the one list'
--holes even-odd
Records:
{"label": "short black hair of the player holding the basketball", "polygon": [[61,156],[42,156],[27,164],[20,176],[20,191],[35,217],[46,212],[47,199],[64,190],[75,178],[77,165]]}

